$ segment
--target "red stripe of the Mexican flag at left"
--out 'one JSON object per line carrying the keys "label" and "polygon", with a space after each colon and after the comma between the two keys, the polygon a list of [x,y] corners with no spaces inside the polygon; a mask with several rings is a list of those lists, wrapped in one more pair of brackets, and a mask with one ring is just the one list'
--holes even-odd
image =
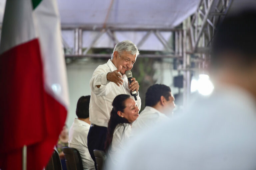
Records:
{"label": "red stripe of the Mexican flag at left", "polygon": [[31,170],[41,170],[52,154],[67,111],[46,93],[43,77],[37,39],[0,56],[2,169],[21,167],[23,145],[28,147],[28,169]]}

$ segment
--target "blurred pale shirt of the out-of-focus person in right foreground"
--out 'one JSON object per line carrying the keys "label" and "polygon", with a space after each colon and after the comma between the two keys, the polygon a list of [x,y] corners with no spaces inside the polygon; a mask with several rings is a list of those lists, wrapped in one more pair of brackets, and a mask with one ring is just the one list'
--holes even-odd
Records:
{"label": "blurred pale shirt of the out-of-focus person in right foreground", "polygon": [[188,113],[130,141],[109,169],[255,170],[255,99],[239,88],[215,90]]}

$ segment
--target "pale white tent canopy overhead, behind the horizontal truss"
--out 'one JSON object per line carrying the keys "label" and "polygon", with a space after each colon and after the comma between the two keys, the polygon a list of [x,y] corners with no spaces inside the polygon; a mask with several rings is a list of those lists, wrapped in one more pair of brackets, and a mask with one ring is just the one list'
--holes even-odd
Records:
{"label": "pale white tent canopy overhead, behind the horizontal truss", "polygon": [[[83,29],[82,48],[95,40],[99,31],[116,29],[117,42],[131,40],[138,44],[148,30],[159,29],[164,41],[171,38],[171,29],[193,14],[200,0],[58,0],[62,35],[65,44],[75,49],[75,28]],[[0,0],[0,23],[4,14],[5,0]],[[128,29],[124,31],[122,29]],[[139,30],[138,30],[139,29]],[[161,30],[164,32],[161,32]],[[113,48],[115,42],[103,33],[93,44],[94,48]],[[150,34],[139,50],[166,50],[155,34]]]}

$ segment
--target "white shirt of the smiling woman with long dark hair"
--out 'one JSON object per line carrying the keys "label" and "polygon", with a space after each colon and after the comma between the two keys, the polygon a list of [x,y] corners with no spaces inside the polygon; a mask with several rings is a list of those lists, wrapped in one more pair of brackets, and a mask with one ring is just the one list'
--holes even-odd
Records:
{"label": "white shirt of the smiling woman with long dark hair", "polygon": [[130,124],[118,124],[113,133],[112,143],[108,150],[108,156],[112,163],[116,164],[119,161],[119,157],[116,157],[117,152],[122,152],[125,150],[126,142],[131,135],[131,125]]}

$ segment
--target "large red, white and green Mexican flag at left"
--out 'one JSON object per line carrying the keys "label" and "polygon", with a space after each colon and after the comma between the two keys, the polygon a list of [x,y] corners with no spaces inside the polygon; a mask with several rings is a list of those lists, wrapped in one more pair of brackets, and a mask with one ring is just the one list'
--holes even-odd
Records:
{"label": "large red, white and green Mexican flag at left", "polygon": [[42,170],[67,116],[56,0],[7,0],[0,43],[0,169]]}

